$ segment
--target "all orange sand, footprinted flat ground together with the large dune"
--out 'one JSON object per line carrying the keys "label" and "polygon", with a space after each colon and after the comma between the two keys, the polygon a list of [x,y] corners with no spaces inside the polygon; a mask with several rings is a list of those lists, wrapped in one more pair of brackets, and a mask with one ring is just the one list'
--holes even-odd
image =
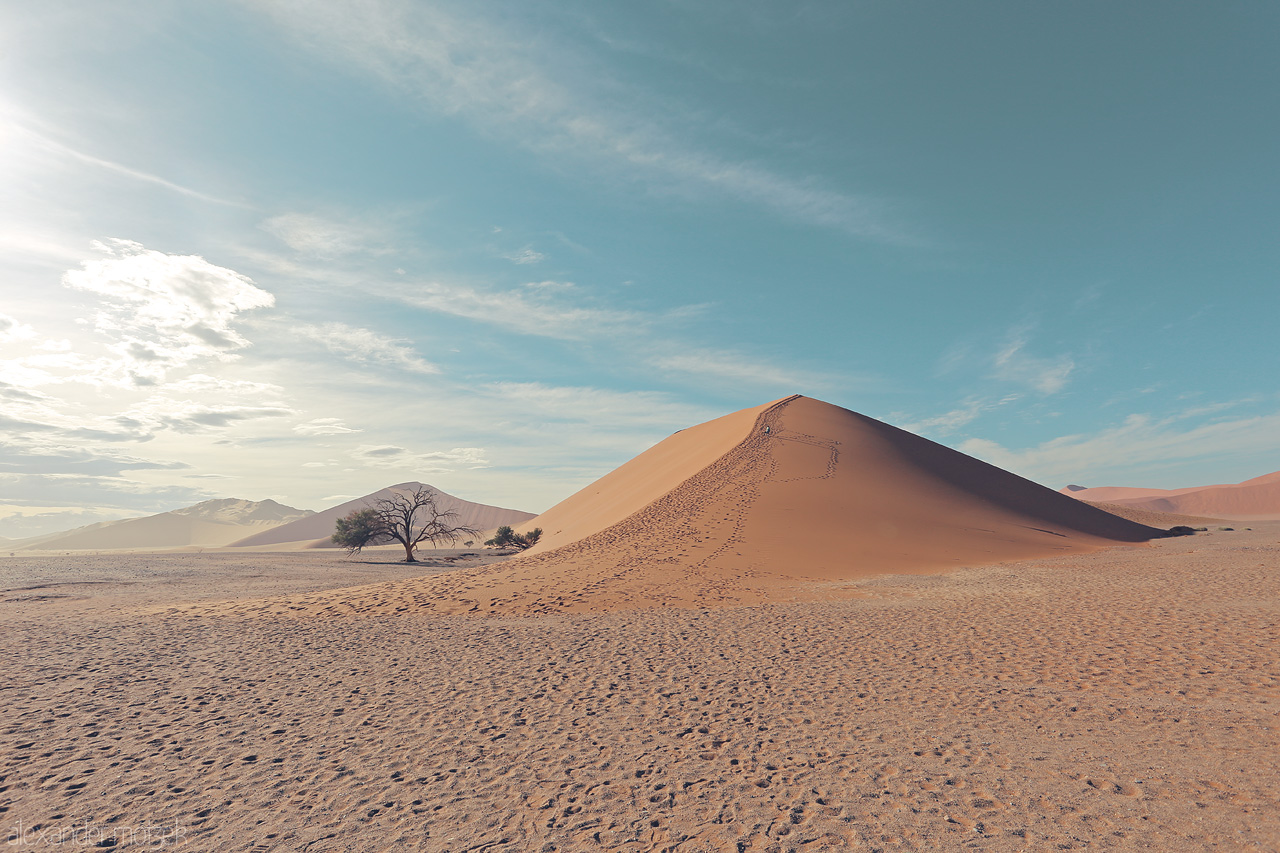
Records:
{"label": "all orange sand, footprinted flat ground together with the large dune", "polygon": [[1280,521],[1116,511],[792,397],[518,557],[19,552],[0,820],[19,849],[1277,850]]}

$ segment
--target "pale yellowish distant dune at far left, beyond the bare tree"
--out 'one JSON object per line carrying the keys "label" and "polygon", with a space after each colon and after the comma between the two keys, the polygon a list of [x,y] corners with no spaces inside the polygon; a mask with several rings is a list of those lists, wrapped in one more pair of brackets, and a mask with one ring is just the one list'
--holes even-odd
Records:
{"label": "pale yellowish distant dune at far left, beyond the bare tree", "polygon": [[33,551],[134,551],[219,547],[251,532],[311,515],[275,501],[220,498],[142,519],[101,521],[20,543]]}

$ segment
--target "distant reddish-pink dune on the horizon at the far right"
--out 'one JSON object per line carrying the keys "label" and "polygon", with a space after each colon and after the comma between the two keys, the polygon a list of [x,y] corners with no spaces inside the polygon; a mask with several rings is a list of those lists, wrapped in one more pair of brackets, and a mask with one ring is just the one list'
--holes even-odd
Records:
{"label": "distant reddish-pink dune on the horizon at the far right", "polygon": [[1280,471],[1226,485],[1184,489],[1143,489],[1119,485],[1066,487],[1064,494],[1080,501],[1115,503],[1155,512],[1216,519],[1280,519]]}

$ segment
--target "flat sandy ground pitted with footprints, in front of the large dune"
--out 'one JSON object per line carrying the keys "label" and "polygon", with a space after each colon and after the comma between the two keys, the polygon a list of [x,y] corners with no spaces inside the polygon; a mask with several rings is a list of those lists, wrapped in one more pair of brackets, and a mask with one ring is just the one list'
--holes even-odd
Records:
{"label": "flat sandy ground pitted with footprints, in front of the large dune", "polygon": [[1253,526],[536,619],[170,610],[448,570],[383,556],[4,558],[0,825],[15,849],[1277,850],[1280,524]]}

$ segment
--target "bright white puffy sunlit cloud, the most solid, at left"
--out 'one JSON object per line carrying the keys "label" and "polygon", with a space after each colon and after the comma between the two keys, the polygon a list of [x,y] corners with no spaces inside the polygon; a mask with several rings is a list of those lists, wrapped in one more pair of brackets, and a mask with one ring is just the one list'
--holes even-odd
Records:
{"label": "bright white puffy sunlit cloud, the most solid, at left", "polygon": [[275,304],[250,278],[196,255],[165,255],[127,240],[93,246],[106,257],[67,272],[63,283],[102,301],[92,321],[111,341],[116,362],[101,382],[155,384],[174,368],[232,359],[250,343],[234,328],[238,315]]}

